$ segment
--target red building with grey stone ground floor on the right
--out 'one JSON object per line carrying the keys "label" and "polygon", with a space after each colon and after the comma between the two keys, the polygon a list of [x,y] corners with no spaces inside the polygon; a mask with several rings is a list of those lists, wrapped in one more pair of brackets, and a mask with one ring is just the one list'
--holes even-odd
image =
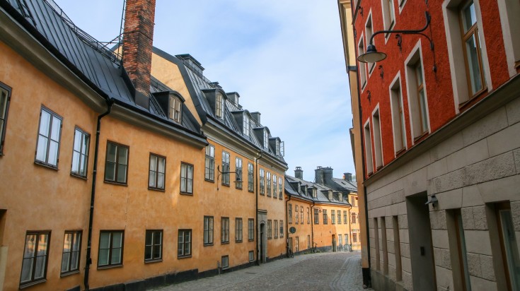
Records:
{"label": "red building with grey stone ground floor on the right", "polygon": [[[353,1],[374,289],[520,290],[519,15],[508,0]],[[361,62],[371,38],[386,59]]]}

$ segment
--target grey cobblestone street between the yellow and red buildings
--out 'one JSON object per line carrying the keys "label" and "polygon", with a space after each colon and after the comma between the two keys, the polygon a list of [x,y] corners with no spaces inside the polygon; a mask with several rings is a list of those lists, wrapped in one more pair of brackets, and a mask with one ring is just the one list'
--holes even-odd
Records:
{"label": "grey cobblestone street between the yellow and red buildings", "polygon": [[361,255],[318,253],[295,256],[210,278],[155,289],[170,290],[342,290],[363,289]]}

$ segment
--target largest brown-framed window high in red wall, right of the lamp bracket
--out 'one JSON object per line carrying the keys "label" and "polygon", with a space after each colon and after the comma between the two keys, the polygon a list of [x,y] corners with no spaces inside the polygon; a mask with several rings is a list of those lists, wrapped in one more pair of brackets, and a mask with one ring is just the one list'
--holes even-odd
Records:
{"label": "largest brown-framed window high in red wall, right of the lamp bracket", "polygon": [[485,89],[485,79],[482,65],[482,52],[478,37],[477,16],[475,4],[468,1],[461,8],[462,42],[465,49],[466,72],[470,96],[475,96]]}

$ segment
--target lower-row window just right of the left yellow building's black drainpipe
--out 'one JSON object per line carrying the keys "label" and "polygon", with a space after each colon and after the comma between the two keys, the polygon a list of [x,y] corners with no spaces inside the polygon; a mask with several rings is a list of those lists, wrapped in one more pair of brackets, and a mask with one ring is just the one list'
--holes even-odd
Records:
{"label": "lower-row window just right of the left yellow building's black drainpipe", "polygon": [[102,230],[99,234],[98,267],[121,266],[125,232]]}

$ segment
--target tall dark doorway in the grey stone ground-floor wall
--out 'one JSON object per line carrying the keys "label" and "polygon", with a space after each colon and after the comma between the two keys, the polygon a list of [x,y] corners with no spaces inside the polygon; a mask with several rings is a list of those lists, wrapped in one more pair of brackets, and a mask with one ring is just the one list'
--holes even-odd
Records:
{"label": "tall dark doorway in the grey stone ground-floor wall", "polygon": [[413,289],[437,290],[435,263],[432,245],[432,228],[429,222],[429,206],[426,192],[408,196],[408,235],[412,260]]}

